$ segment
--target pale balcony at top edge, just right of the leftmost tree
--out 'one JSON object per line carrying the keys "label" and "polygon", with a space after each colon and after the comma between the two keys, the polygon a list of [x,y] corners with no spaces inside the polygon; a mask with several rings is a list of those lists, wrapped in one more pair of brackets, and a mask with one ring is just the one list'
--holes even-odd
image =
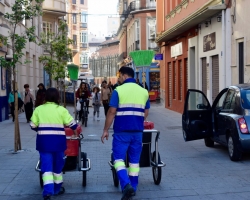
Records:
{"label": "pale balcony at top edge, just right of the leftmost tree", "polygon": [[66,15],[65,0],[44,0],[43,13],[53,14],[56,17]]}

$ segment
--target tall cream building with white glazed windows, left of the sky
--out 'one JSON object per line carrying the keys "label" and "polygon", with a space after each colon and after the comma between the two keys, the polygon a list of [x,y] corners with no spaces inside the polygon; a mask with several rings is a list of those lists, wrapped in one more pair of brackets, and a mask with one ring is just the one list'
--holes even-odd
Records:
{"label": "tall cream building with white glazed windows, left of the sky", "polygon": [[70,46],[72,62],[80,66],[81,72],[89,71],[88,44],[88,0],[67,0],[68,37],[73,40]]}

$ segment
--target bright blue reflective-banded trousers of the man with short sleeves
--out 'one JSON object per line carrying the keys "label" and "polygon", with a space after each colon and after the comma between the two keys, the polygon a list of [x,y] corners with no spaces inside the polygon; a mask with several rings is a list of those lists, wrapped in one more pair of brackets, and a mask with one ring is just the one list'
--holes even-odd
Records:
{"label": "bright blue reflective-banded trousers of the man with short sleeves", "polygon": [[[142,151],[142,132],[113,134],[112,151],[114,163],[119,163],[115,168],[121,189],[123,190],[127,184],[131,184],[136,191],[138,186],[139,161]],[[124,163],[126,153],[129,161],[129,175]]]}

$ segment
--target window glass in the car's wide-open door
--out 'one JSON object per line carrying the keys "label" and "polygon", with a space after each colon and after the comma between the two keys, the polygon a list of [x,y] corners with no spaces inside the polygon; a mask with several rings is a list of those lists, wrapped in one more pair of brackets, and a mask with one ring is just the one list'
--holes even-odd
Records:
{"label": "window glass in the car's wide-open door", "polygon": [[202,93],[190,91],[187,110],[207,110],[210,108],[209,102]]}

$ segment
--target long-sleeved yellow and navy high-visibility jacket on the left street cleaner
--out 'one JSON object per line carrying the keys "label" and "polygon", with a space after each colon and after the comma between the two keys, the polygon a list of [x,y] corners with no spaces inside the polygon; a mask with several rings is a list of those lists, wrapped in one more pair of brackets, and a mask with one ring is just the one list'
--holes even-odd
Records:
{"label": "long-sleeved yellow and navy high-visibility jacket on the left street cleaner", "polygon": [[64,126],[77,128],[68,110],[52,102],[38,106],[31,117],[30,126],[37,131],[36,149],[43,152],[66,150]]}

